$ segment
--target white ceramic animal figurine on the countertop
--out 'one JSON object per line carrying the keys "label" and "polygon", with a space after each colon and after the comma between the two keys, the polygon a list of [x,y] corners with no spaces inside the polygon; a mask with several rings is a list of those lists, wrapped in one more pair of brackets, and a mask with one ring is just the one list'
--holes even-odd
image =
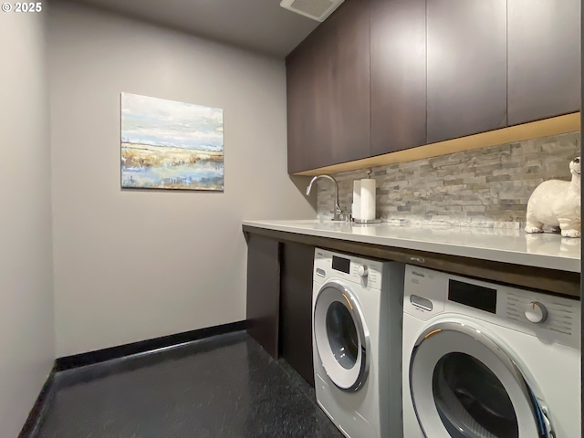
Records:
{"label": "white ceramic animal figurine on the countertop", "polygon": [[580,237],[580,157],[569,162],[572,181],[539,184],[527,203],[527,233],[543,233],[543,225],[561,229],[564,237]]}

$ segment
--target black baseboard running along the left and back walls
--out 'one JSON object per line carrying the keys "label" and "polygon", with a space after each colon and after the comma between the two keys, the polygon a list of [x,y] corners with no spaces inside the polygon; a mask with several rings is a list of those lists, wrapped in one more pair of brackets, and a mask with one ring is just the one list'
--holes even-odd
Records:
{"label": "black baseboard running along the left and back walls", "polygon": [[248,328],[247,321],[236,321],[220,326],[200,328],[197,330],[175,333],[161,338],[146,339],[130,344],[110,347],[109,349],[98,349],[87,353],[75,354],[58,358],[53,364],[53,369],[48,375],[47,381],[36,398],[35,405],[28,414],[25,425],[18,434],[18,438],[34,438],[38,433],[41,422],[47,413],[50,402],[57,394],[56,374],[59,371],[73,370],[88,365],[94,365],[108,360],[120,360],[137,354],[148,354],[160,349],[170,349],[195,340],[211,338],[217,335],[224,335]]}

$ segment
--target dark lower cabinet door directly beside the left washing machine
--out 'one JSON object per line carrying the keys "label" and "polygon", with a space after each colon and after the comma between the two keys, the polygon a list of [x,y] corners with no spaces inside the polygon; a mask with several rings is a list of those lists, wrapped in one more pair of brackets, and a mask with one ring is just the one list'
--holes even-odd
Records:
{"label": "dark lower cabinet door directly beside the left washing machine", "polygon": [[280,353],[314,386],[312,363],[312,266],[314,246],[282,244]]}

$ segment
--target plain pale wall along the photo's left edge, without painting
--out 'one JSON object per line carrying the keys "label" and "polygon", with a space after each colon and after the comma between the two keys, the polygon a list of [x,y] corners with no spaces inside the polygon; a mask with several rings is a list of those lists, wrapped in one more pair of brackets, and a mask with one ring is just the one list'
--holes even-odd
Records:
{"label": "plain pale wall along the photo's left edge, without painting", "polygon": [[44,14],[0,13],[0,436],[55,359]]}

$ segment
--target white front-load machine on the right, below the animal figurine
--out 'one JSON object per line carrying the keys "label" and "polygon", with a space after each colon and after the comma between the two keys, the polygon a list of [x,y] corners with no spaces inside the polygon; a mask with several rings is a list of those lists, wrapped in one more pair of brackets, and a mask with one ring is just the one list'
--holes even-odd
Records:
{"label": "white front-load machine on the right, below the animal figurine", "polygon": [[580,302],[406,266],[407,438],[580,436]]}

